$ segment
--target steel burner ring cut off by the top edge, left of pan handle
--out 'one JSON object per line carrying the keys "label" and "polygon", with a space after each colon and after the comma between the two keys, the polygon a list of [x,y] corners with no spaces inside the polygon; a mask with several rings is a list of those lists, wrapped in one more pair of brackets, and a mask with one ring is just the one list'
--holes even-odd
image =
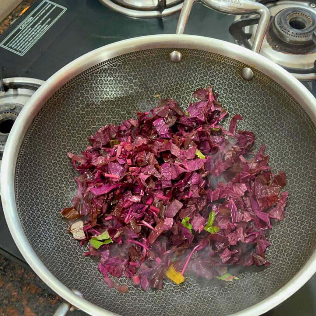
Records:
{"label": "steel burner ring cut off by the top edge, left of pan handle", "polygon": [[100,0],[107,7],[132,17],[171,15],[181,10],[184,0]]}

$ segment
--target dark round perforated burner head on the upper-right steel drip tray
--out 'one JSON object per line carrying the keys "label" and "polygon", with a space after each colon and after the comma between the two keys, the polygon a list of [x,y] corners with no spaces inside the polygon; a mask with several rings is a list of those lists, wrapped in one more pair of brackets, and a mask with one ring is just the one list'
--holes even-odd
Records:
{"label": "dark round perforated burner head on the upper-right steel drip tray", "polygon": [[306,45],[313,43],[316,15],[302,8],[288,8],[276,14],[273,31],[283,42]]}

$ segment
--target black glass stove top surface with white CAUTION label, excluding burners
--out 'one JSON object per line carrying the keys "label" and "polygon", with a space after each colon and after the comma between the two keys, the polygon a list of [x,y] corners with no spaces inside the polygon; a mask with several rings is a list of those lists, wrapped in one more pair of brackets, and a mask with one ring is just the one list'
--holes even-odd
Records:
{"label": "black glass stove top surface with white CAUTION label, excluding burners", "polygon": [[[2,75],[46,80],[73,59],[100,46],[131,37],[174,33],[178,18],[179,14],[131,18],[112,11],[98,0],[38,0],[0,36]],[[196,4],[185,33],[234,42],[228,32],[233,21],[234,16]],[[316,82],[304,85],[316,95]],[[1,204],[0,251],[24,261],[9,233]],[[291,298],[264,315],[316,315],[316,275]]]}

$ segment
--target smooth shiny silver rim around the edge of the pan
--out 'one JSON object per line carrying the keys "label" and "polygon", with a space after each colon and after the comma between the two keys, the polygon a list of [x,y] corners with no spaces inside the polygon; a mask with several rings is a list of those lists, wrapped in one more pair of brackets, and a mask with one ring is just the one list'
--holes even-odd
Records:
{"label": "smooth shiny silver rim around the edge of the pan", "polygon": [[[107,59],[129,52],[153,48],[191,48],[218,53],[251,65],[266,74],[297,100],[316,125],[316,100],[291,74],[267,58],[236,44],[196,35],[149,35],[123,40],[100,47],[75,59],[52,75],[32,96],[19,114],[9,134],[1,166],[1,197],[9,230],[21,254],[36,274],[58,295],[90,315],[114,316],[97,305],[82,299],[59,281],[40,261],[24,234],[15,202],[15,167],[23,137],[37,112],[60,87],[82,71]],[[267,299],[229,316],[258,316],[277,306],[303,286],[316,272],[316,251],[301,270],[281,289]]]}

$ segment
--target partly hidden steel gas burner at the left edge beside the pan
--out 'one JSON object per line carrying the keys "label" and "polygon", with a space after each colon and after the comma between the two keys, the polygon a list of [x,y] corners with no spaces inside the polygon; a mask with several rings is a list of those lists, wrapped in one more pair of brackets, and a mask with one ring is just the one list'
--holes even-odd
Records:
{"label": "partly hidden steel gas burner at the left edge beside the pan", "polygon": [[4,91],[0,91],[0,157],[16,118],[43,83],[33,78],[3,79]]}

